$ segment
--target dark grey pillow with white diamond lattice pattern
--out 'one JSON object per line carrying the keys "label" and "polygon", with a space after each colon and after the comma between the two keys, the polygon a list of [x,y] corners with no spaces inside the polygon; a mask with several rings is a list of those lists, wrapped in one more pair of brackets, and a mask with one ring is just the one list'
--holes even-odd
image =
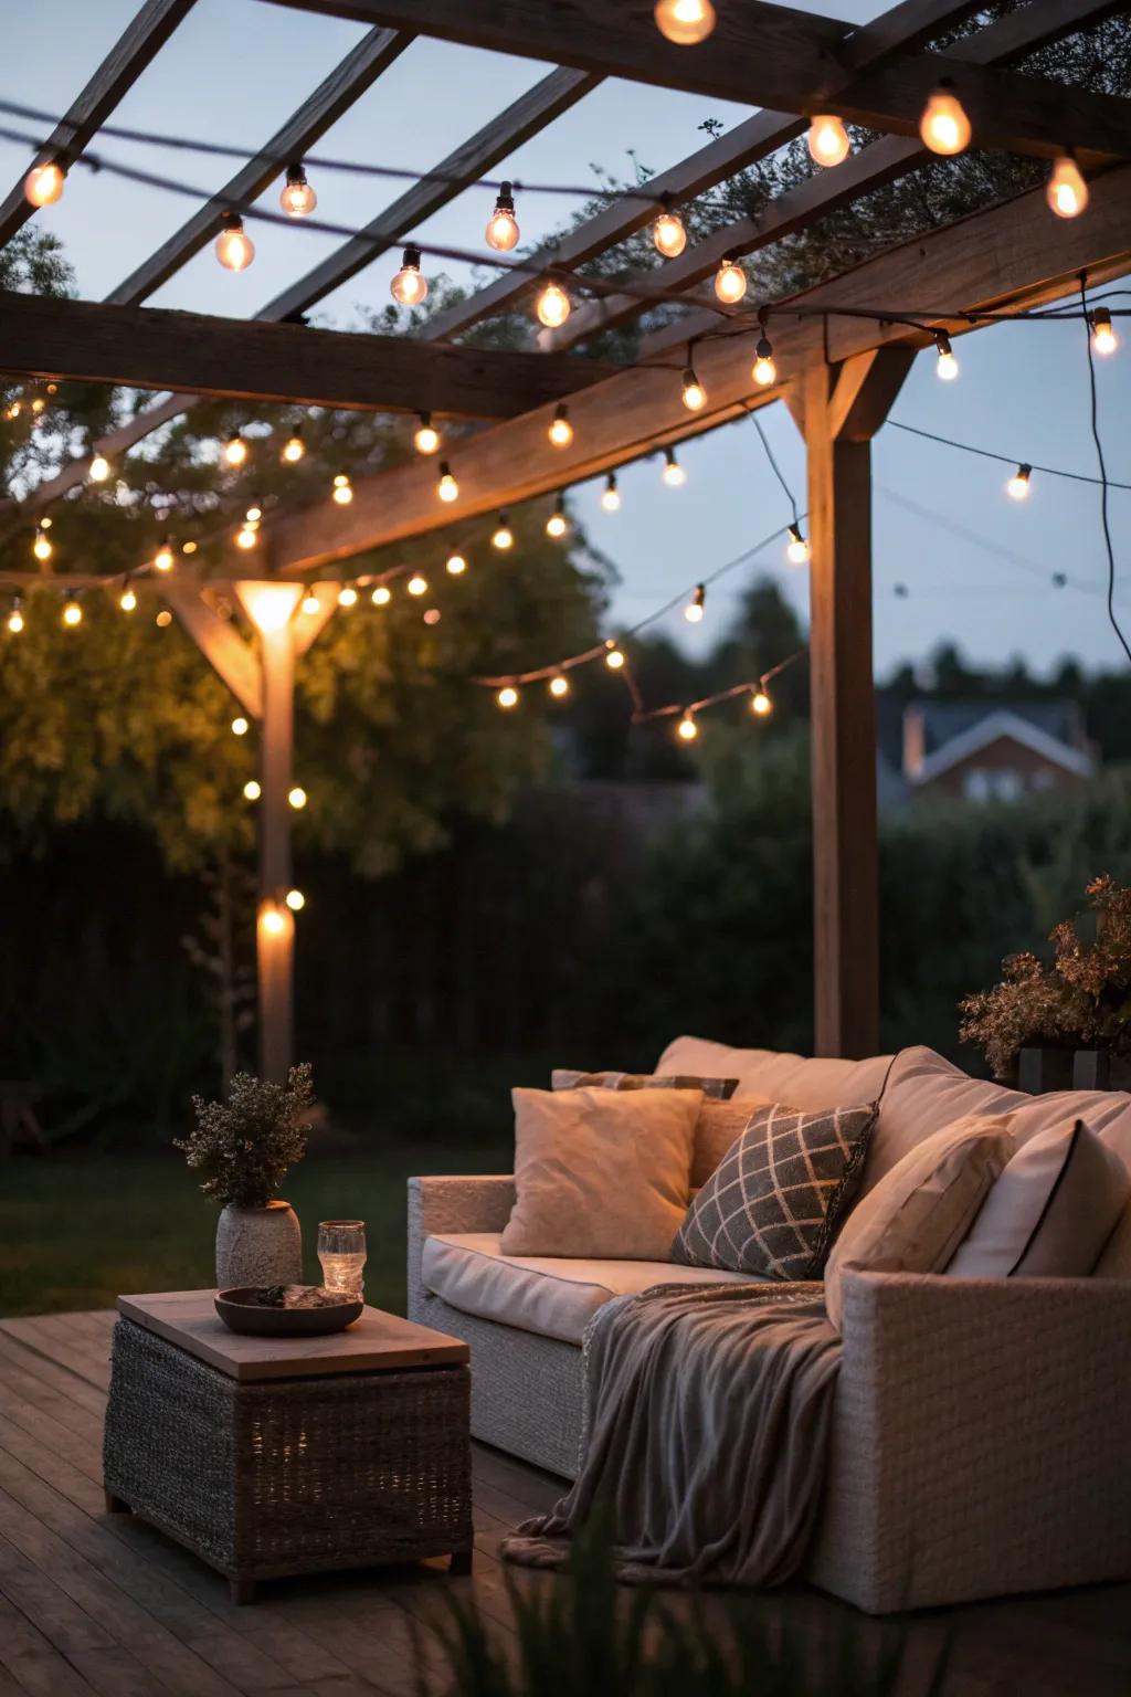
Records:
{"label": "dark grey pillow with white diamond lattice pattern", "polygon": [[811,1113],[777,1101],[755,1108],[687,1210],[671,1259],[726,1273],[821,1278],[875,1120],[875,1103]]}

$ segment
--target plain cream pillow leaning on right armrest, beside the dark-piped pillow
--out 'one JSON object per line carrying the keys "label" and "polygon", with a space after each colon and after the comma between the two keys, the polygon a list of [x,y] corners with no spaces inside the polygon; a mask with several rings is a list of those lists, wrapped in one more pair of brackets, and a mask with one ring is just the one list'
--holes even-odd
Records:
{"label": "plain cream pillow leaning on right armrest, beside the dark-piped pillow", "polygon": [[1014,1152],[1012,1115],[972,1113],[909,1149],[848,1215],[824,1269],[824,1305],[841,1327],[846,1266],[939,1273]]}

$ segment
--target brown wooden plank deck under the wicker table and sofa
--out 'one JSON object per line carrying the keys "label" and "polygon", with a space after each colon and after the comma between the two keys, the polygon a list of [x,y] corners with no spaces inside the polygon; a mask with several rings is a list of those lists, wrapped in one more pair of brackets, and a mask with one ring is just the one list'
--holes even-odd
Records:
{"label": "brown wooden plank deck under the wicker table and sofa", "polygon": [[[112,1324],[112,1313],[0,1320],[0,1697],[409,1697],[414,1634],[439,1694],[448,1678],[432,1627],[444,1595],[473,1597],[510,1634],[499,1539],[560,1485],[482,1446],[470,1578],[424,1563],[285,1580],[241,1609],[203,1563],[129,1515],[107,1517]],[[519,1583],[558,1582],[521,1573]],[[668,1593],[668,1605],[685,1604]],[[726,1607],[717,1595],[705,1605]],[[938,1610],[902,1629],[804,1588],[763,1607],[799,1627],[822,1665],[844,1633],[866,1653],[905,1631],[899,1697],[926,1697],[944,1655],[946,1697],[1131,1692],[1131,1585]],[[799,1697],[811,1689],[799,1678]]]}

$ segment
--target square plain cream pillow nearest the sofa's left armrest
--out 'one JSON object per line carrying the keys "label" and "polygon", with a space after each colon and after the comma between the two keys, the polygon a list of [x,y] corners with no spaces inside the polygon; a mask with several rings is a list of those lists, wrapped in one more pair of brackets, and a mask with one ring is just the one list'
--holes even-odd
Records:
{"label": "square plain cream pillow nearest the sofa's left armrest", "polygon": [[690,1200],[700,1089],[514,1089],[505,1256],[666,1261]]}

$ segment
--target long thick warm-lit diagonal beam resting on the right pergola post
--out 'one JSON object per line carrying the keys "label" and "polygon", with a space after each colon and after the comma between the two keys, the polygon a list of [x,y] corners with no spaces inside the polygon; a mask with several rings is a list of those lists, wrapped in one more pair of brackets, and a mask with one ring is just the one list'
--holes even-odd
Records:
{"label": "long thick warm-lit diagonal beam resting on the right pergola post", "polygon": [[[841,361],[889,343],[914,348],[931,339],[912,326],[855,312],[914,307],[958,333],[970,328],[965,312],[1011,312],[1055,300],[1082,270],[1094,282],[1123,275],[1131,270],[1129,193],[1131,166],[1107,171],[1094,183],[1089,216],[1050,232],[1045,195],[1033,190],[807,290],[783,304],[772,322],[780,382],[824,361],[826,348],[833,361]],[[790,316],[790,305],[805,309],[805,316]],[[751,380],[756,336],[756,329],[736,328],[731,336],[700,343],[695,368],[709,397],[700,414],[682,406],[670,363],[636,367],[571,399],[570,448],[548,448],[549,409],[510,419],[461,448],[461,496],[451,507],[439,506],[434,479],[424,468],[402,465],[358,480],[354,501],[341,514],[319,509],[275,519],[268,536],[271,563],[307,570],[348,558],[592,477],[665,440],[714,429],[782,392],[780,387],[758,392]]]}

